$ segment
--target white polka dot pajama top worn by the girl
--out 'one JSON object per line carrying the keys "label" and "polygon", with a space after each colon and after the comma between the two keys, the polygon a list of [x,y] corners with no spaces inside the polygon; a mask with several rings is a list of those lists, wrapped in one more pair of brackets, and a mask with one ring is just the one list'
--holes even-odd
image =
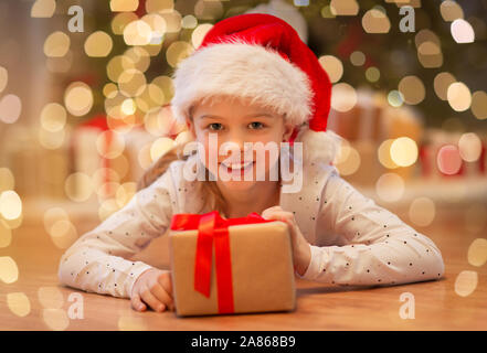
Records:
{"label": "white polka dot pajama top worn by the girl", "polygon": [[[72,244],[60,260],[61,284],[130,298],[134,282],[151,266],[128,258],[163,235],[172,214],[212,211],[203,207],[198,181],[183,178],[188,161],[172,162],[151,185]],[[300,191],[282,192],[279,201],[295,214],[310,244],[310,264],[297,277],[326,285],[382,286],[443,276],[435,244],[358,192],[334,165],[305,164],[303,172]]]}

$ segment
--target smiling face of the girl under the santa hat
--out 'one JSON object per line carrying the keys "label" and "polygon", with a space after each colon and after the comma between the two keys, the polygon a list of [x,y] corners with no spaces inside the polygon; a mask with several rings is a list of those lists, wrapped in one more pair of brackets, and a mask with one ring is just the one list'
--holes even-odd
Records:
{"label": "smiling face of the girl under the santa hat", "polygon": [[[192,119],[188,121],[195,141],[204,147],[204,165],[218,183],[229,190],[250,189],[256,183],[257,175],[258,180],[265,178],[268,181],[269,170],[278,161],[280,142],[289,139],[293,125],[285,124],[283,116],[268,108],[251,105],[248,98],[219,98],[197,104],[192,109]],[[213,140],[210,139],[211,135]],[[245,142],[251,143],[245,148]],[[262,142],[263,147],[273,142],[267,146],[276,146],[277,156],[271,153],[269,149],[260,148],[256,142]],[[230,148],[221,148],[222,145]],[[258,157],[258,168],[257,150],[263,151]],[[210,154],[215,163],[211,162]],[[265,156],[265,161],[262,156]],[[237,168],[240,165],[242,168]]]}

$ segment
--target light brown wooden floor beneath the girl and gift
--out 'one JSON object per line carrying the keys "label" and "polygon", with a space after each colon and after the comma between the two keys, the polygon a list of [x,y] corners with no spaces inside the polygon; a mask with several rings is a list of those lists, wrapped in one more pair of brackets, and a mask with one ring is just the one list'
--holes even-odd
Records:
{"label": "light brown wooden floor beneath the girl and gift", "polygon": [[[27,211],[25,211],[27,212]],[[440,247],[446,271],[438,281],[387,288],[327,287],[297,280],[297,309],[290,313],[258,313],[178,318],[174,312],[136,312],[128,299],[114,298],[63,287],[57,281],[57,264],[62,249],[54,246],[44,231],[42,214],[27,217],[12,234],[8,247],[0,248],[0,258],[10,256],[19,268],[18,280],[0,281],[1,330],[487,330],[487,264],[468,263],[468,247],[475,238],[486,238],[486,227],[472,233],[465,228],[462,207],[438,210],[426,228],[416,227]],[[399,214],[401,218],[407,217]],[[80,234],[96,221],[75,220]],[[160,257],[165,239],[157,239],[138,255],[153,266],[167,266]],[[157,254],[156,254],[157,252]],[[156,256],[158,255],[158,256]],[[462,297],[455,281],[464,270],[476,271],[475,290]],[[414,319],[402,319],[402,293],[414,298]],[[23,293],[29,307],[14,313],[8,295]],[[70,319],[72,293],[81,293],[83,319]],[[25,297],[23,297],[25,298]],[[411,302],[411,301],[409,301]],[[20,310],[20,309],[19,309]]]}

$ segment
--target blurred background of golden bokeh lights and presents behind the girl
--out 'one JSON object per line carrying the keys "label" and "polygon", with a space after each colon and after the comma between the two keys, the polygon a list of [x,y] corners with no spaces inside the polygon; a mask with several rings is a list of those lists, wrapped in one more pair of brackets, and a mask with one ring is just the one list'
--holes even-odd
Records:
{"label": "blurred background of golden bokeh lights and presents behind the girl", "polygon": [[454,214],[485,237],[486,0],[0,0],[2,254],[23,225],[62,250],[123,207],[187,139],[174,67],[245,12],[287,21],[329,74],[342,178],[413,227]]}

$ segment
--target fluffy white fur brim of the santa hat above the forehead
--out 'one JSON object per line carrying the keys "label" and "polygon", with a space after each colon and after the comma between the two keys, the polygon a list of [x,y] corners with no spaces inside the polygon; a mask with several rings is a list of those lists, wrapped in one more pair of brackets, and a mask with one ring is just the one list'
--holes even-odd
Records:
{"label": "fluffy white fur brim of the santa hat above the forehead", "polygon": [[184,122],[189,108],[214,96],[252,98],[300,125],[311,118],[313,89],[305,72],[273,49],[239,39],[210,44],[184,58],[173,74],[174,118]]}

